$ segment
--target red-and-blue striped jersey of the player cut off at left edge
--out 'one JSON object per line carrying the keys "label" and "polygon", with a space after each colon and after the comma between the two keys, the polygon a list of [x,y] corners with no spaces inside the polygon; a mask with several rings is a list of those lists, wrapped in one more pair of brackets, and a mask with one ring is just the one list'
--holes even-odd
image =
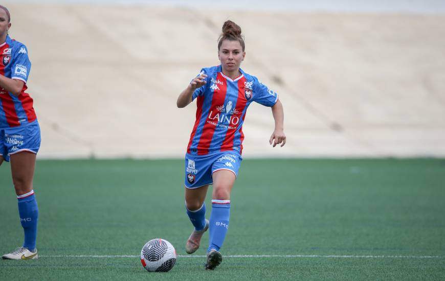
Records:
{"label": "red-and-blue striped jersey of the player cut off at left edge", "polygon": [[33,100],[25,92],[31,69],[28,49],[7,36],[0,44],[0,55],[0,75],[25,82],[18,97],[0,87],[0,129],[26,126],[36,120]]}

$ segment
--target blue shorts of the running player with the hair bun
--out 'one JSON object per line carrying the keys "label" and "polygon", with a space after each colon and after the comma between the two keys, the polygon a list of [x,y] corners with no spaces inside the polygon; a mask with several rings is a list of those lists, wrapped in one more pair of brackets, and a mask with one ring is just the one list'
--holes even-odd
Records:
{"label": "blue shorts of the running player with the hair bun", "polygon": [[219,170],[229,170],[236,177],[241,160],[237,151],[221,151],[207,155],[186,153],[185,186],[188,189],[196,189],[212,184],[212,174]]}

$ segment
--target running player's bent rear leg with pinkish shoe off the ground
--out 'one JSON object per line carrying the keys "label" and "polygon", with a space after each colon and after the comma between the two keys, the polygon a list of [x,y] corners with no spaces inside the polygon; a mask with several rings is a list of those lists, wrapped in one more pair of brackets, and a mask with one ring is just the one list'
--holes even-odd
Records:
{"label": "running player's bent rear leg with pinkish shoe off the ground", "polygon": [[196,189],[185,188],[187,216],[194,226],[194,230],[186,243],[186,252],[189,254],[194,253],[199,248],[201,238],[209,228],[209,221],[206,220],[206,204],[204,203],[208,188],[209,185]]}

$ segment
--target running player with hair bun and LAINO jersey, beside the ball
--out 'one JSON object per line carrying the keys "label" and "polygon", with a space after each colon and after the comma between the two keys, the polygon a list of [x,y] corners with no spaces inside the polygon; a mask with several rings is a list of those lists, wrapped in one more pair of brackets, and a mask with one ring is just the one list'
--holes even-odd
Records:
{"label": "running player with hair bun and LAINO jersey, beside the ball", "polygon": [[[242,71],[244,49],[241,28],[226,21],[218,40],[221,64],[203,68],[177,98],[177,107],[185,107],[197,98],[196,121],[185,159],[186,211],[194,226],[186,252],[195,252],[209,229],[206,269],[214,269],[222,261],[219,249],[229,229],[230,192],[242,160],[241,126],[252,102],[272,107],[275,130],[269,143],[273,147],[286,143],[283,106],[276,92]],[[204,200],[210,184],[213,194],[208,221]]]}

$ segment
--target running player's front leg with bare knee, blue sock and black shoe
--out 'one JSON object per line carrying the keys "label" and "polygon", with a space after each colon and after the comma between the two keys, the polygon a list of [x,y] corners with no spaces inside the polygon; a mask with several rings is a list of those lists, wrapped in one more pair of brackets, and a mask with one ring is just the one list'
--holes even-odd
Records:
{"label": "running player's front leg with bare knee, blue sock and black shoe", "polygon": [[210,215],[207,269],[214,269],[222,261],[219,249],[229,229],[230,193],[235,183],[235,173],[218,170],[213,173],[212,213]]}

